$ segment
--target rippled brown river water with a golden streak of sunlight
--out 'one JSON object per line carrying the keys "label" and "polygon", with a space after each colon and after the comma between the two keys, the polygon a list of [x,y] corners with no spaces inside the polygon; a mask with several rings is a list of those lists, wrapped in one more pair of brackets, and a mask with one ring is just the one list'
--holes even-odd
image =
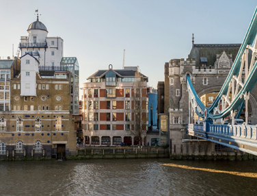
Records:
{"label": "rippled brown river water with a golden streak of sunlight", "polygon": [[257,195],[257,162],[0,162],[0,195]]}

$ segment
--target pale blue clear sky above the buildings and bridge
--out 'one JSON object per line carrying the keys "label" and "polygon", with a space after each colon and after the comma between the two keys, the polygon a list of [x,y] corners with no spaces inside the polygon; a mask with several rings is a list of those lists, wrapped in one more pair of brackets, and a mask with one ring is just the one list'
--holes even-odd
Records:
{"label": "pale blue clear sky above the buildings and bridge", "polygon": [[36,21],[64,39],[64,56],[79,61],[80,86],[100,69],[139,66],[148,86],[164,81],[164,64],[187,58],[195,44],[241,43],[256,0],[0,0],[0,56],[14,56]]}

